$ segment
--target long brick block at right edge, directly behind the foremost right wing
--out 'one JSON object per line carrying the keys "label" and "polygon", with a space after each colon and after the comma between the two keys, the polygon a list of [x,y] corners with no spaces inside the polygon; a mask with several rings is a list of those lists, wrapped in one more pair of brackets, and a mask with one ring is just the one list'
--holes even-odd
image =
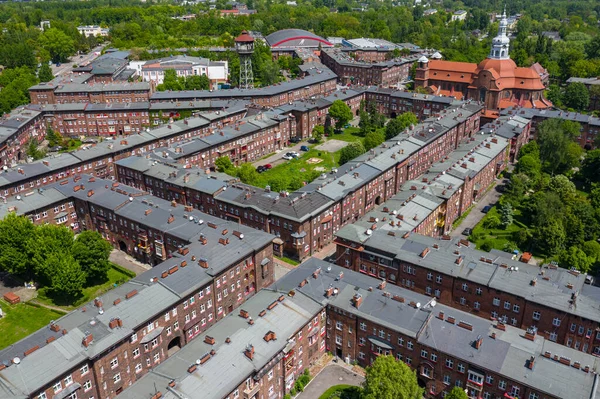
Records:
{"label": "long brick block at right edge, directly behind the foremost right wing", "polygon": [[448,236],[436,239],[387,226],[366,234],[360,227],[338,232],[339,265],[600,355],[600,318],[592,311],[598,297],[595,287],[584,285],[584,274],[528,265]]}

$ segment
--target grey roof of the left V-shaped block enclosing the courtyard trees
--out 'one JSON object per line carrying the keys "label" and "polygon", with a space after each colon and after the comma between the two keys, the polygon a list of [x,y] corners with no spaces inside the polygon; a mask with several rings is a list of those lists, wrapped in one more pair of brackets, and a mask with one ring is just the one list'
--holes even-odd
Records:
{"label": "grey roof of the left V-shaped block enclosing the courtyard trees", "polygon": [[[69,179],[66,184],[57,183],[44,194],[49,190],[176,237],[181,240],[181,249],[173,258],[103,294],[99,306],[94,301],[87,303],[54,321],[55,327],[43,328],[0,351],[0,362],[7,366],[0,371],[4,380],[0,392],[4,388],[29,394],[52,382],[83,360],[127,339],[160,311],[170,309],[273,239],[262,231],[87,175]],[[118,328],[111,327],[116,319],[121,321]],[[91,343],[82,344],[90,335]],[[38,349],[30,352],[32,348]],[[22,358],[24,353],[27,355]],[[22,358],[20,364],[12,364],[14,358]]]}

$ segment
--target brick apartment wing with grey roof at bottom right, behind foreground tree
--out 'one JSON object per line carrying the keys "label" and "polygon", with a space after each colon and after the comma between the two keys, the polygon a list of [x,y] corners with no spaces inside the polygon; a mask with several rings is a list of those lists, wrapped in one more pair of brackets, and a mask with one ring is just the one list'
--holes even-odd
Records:
{"label": "brick apartment wing with grey roof at bottom right, behind foreground tree", "polygon": [[416,370],[426,398],[454,386],[485,399],[589,398],[598,389],[597,357],[385,280],[311,259],[277,288],[323,304],[328,351],[363,367],[394,356]]}

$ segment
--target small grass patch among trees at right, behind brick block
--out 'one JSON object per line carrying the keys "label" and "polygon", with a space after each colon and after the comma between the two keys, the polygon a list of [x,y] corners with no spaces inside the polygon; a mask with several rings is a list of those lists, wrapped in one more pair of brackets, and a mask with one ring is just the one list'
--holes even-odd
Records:
{"label": "small grass patch among trees at right, behind brick block", "polygon": [[[519,249],[516,247],[514,234],[522,229],[526,229],[523,223],[519,221],[521,217],[521,211],[519,209],[514,210],[513,214],[513,223],[508,226],[506,229],[501,227],[498,228],[485,228],[486,219],[492,218],[494,216],[500,217],[498,213],[498,209],[494,206],[490,211],[485,215],[483,219],[473,228],[473,233],[469,237],[469,239],[477,245],[477,248],[481,249],[484,246],[484,243],[488,243],[491,245],[491,248],[505,250],[508,247],[511,249]],[[521,251],[522,252],[522,251]]]}

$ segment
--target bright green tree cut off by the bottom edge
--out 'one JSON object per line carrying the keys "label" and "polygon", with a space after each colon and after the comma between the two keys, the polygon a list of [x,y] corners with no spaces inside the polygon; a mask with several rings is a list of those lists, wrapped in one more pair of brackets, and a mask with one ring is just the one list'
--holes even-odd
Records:
{"label": "bright green tree cut off by the bottom edge", "polygon": [[363,399],[421,399],[417,375],[393,356],[379,356],[367,367],[363,384]]}

